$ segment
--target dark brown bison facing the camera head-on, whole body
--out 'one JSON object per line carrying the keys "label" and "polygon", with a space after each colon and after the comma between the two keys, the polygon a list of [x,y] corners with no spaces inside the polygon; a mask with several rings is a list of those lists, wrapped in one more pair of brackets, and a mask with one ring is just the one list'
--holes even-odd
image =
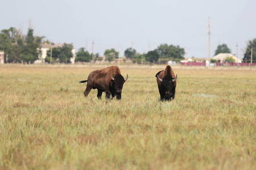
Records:
{"label": "dark brown bison facing the camera head-on, whole body", "polygon": [[175,77],[171,66],[166,66],[165,70],[156,73],[156,82],[160,93],[160,100],[172,100],[175,97],[177,74]]}

